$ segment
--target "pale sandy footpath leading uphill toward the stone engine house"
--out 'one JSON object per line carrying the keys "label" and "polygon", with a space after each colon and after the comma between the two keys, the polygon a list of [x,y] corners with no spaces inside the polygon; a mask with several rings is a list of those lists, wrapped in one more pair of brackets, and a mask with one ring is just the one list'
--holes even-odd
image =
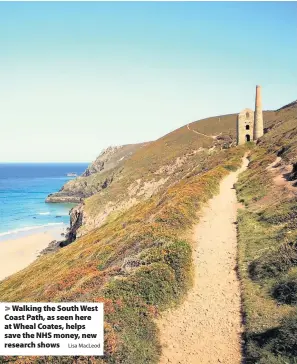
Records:
{"label": "pale sandy footpath leading uphill toward the stone engine house", "polygon": [[241,298],[236,273],[238,175],[230,173],[220,193],[209,201],[195,227],[194,286],[184,303],[158,321],[160,364],[239,364],[241,362]]}

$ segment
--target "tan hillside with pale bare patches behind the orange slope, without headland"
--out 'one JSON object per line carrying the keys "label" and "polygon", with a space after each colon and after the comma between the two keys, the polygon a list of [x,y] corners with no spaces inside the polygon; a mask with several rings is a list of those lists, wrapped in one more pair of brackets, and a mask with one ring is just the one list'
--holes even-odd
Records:
{"label": "tan hillside with pale bare patches behind the orange slope, without headland", "polygon": [[[236,114],[224,115],[193,122],[189,128],[179,128],[136,150],[107,188],[84,200],[84,223],[78,236],[105,223],[107,217],[117,216],[155,193],[166,191],[191,171],[211,169],[215,158],[209,156],[234,143],[235,133]],[[92,178],[97,178],[96,174]]]}

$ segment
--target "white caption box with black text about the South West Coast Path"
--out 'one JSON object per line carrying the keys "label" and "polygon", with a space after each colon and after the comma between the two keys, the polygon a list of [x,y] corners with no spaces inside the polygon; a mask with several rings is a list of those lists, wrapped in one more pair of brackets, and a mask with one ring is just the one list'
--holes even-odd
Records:
{"label": "white caption box with black text about the South West Coast Path", "polygon": [[0,356],[103,355],[103,303],[0,302]]}

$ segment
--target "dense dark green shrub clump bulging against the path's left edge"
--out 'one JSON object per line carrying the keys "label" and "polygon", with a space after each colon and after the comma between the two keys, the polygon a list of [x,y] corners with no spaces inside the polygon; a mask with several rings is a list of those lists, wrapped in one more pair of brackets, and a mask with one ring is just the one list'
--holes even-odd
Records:
{"label": "dense dark green shrub clump bulging against the path's left edge", "polygon": [[150,305],[166,306],[177,300],[191,280],[191,247],[183,241],[147,249],[140,256],[142,265],[126,277],[111,281],[104,296],[129,301],[138,296]]}

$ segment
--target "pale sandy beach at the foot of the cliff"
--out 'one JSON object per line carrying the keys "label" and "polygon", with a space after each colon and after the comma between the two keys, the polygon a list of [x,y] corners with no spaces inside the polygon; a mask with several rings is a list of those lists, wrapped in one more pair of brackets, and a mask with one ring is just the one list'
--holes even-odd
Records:
{"label": "pale sandy beach at the foot of the cliff", "polygon": [[65,227],[38,229],[33,234],[0,241],[0,280],[26,268],[53,240],[63,240]]}

